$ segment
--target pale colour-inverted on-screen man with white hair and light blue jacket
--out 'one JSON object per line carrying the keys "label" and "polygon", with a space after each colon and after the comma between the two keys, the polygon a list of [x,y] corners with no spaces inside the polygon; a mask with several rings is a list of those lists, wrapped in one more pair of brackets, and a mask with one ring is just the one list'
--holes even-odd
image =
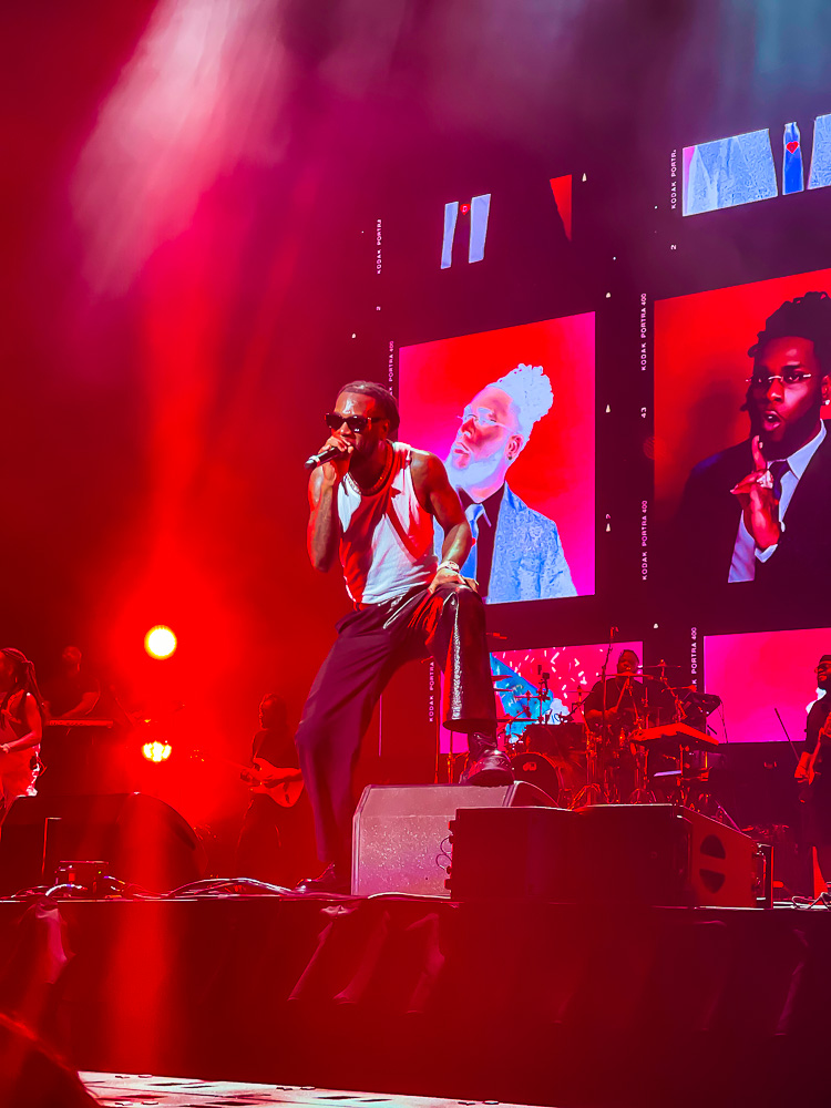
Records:
{"label": "pale colour-inverted on-screen man with white hair and light blue jacket", "polygon": [[557,525],[505,480],[553,402],[542,367],[520,365],[476,393],[450,448],[448,476],[476,540],[462,573],[491,604],[576,594]]}

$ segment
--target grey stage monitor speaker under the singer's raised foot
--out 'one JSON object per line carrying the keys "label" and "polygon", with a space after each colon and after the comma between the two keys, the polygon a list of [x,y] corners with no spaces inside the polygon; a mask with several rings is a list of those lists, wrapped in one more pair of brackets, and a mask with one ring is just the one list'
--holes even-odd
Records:
{"label": "grey stage monitor speaker under the singer's raised foot", "polygon": [[352,893],[447,896],[450,821],[463,808],[552,806],[526,781],[475,784],[368,786],[355,813]]}

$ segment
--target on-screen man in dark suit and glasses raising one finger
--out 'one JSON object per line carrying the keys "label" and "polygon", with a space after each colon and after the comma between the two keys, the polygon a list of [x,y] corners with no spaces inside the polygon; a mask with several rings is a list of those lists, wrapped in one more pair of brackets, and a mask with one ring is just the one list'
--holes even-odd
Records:
{"label": "on-screen man in dark suit and glasses raising one finger", "polygon": [[690,473],[678,554],[708,582],[824,589],[831,441],[820,413],[831,402],[831,297],[786,300],[748,353],[750,438]]}

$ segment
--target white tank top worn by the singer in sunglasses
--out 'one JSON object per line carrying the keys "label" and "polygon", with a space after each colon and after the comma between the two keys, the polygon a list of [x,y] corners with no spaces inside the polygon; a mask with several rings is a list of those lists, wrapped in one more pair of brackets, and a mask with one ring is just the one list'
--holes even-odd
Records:
{"label": "white tank top worn by the singer in sunglasses", "polygon": [[433,517],[419,503],[410,469],[411,448],[393,442],[389,479],[368,496],[347,475],[338,486],[340,564],[358,607],[383,604],[429,585],[439,560]]}

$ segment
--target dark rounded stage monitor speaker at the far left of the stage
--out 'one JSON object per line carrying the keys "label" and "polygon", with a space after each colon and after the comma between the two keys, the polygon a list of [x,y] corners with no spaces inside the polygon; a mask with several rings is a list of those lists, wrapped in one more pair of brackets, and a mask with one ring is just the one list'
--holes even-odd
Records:
{"label": "dark rounded stage monitor speaker at the far left of the stage", "polygon": [[107,863],[107,873],[167,892],[205,872],[205,852],[175,809],[140,792],[20,797],[0,834],[0,895],[51,883],[61,861]]}

